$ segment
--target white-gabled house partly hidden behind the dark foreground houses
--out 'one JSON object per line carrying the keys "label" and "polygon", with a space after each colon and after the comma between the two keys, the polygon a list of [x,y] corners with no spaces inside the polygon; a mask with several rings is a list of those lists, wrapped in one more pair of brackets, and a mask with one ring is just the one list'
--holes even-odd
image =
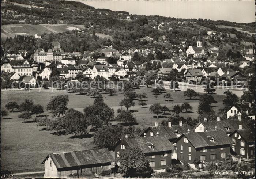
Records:
{"label": "white-gabled house partly hidden behind the dark foreground houses", "polygon": [[207,118],[204,118],[203,122],[199,122],[195,127],[193,127],[193,131],[206,132],[206,131],[223,130],[226,134],[230,134],[234,130],[238,129],[240,120],[222,120],[221,121],[221,119],[217,117],[217,120],[215,121],[207,121]]}

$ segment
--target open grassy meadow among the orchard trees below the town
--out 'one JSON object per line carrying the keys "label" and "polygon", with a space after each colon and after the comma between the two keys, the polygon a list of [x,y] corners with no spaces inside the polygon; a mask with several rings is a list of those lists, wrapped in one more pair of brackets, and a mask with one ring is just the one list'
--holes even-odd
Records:
{"label": "open grassy meadow among the orchard trees below the town", "polygon": [[[135,127],[148,127],[154,124],[154,122],[161,122],[162,119],[167,119],[172,114],[163,115],[160,114],[159,118],[156,118],[155,114],[151,114],[148,107],[153,103],[161,103],[169,108],[172,108],[175,104],[181,104],[189,102],[193,107],[190,113],[181,113],[181,116],[192,118],[197,117],[198,100],[188,101],[183,96],[183,91],[171,92],[173,99],[169,102],[163,98],[164,94],[160,94],[156,99],[151,92],[152,88],[140,88],[136,89],[136,93],[146,92],[147,98],[144,101],[147,106],[138,106],[139,100],[136,99],[135,106],[131,107],[138,125]],[[1,92],[1,108],[7,102],[12,100],[20,103],[23,99],[33,99],[34,103],[42,104],[44,108],[49,102],[50,98],[57,94],[68,94],[69,102],[68,108],[75,108],[79,111],[83,111],[83,108],[93,104],[93,98],[86,95],[77,95],[74,93],[68,93],[64,90],[42,90],[38,93],[38,90],[29,91],[2,91]],[[102,94],[106,104],[112,107],[115,111],[120,108],[119,102],[123,99],[122,92],[117,92],[116,95],[109,96],[108,94]],[[215,104],[215,110],[222,107],[222,95],[215,95],[214,99],[218,101]],[[72,135],[57,135],[53,131],[45,130],[45,127],[39,127],[36,123],[27,120],[27,123],[23,123],[22,119],[18,118],[20,112],[9,113],[9,115],[1,119],[1,164],[4,169],[15,170],[14,172],[25,171],[42,171],[44,165],[41,164],[42,160],[48,153],[75,151],[90,149],[94,147],[93,132],[89,135],[81,138],[74,138]],[[49,115],[48,111],[45,111],[43,115]],[[34,117],[34,116],[33,116]],[[116,122],[112,121],[112,125]],[[24,162],[26,161],[26,162]]]}

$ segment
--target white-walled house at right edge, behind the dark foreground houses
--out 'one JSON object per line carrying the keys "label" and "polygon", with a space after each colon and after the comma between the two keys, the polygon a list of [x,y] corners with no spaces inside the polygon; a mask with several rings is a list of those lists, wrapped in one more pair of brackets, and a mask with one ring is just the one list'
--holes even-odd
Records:
{"label": "white-walled house at right edge, behind the dark foreground houses", "polygon": [[255,103],[254,101],[241,104],[235,104],[227,111],[227,118],[233,117],[234,115],[241,116],[242,114],[247,115],[251,119],[255,119]]}

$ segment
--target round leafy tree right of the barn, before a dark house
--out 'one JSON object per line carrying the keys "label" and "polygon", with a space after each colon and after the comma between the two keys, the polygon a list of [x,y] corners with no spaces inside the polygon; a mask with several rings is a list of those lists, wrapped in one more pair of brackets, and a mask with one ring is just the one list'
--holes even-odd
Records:
{"label": "round leafy tree right of the barn, before a dark house", "polygon": [[139,148],[128,148],[120,153],[119,170],[125,177],[136,177],[140,174],[152,174],[149,161]]}

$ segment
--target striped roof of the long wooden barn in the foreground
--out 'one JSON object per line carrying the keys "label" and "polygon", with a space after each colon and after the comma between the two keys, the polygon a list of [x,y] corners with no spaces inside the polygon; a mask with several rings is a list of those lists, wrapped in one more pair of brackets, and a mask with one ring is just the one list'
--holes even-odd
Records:
{"label": "striped roof of the long wooden barn in the foreground", "polygon": [[51,157],[58,171],[61,168],[114,162],[114,158],[107,148],[51,153],[44,159],[42,164],[45,163],[49,157]]}

